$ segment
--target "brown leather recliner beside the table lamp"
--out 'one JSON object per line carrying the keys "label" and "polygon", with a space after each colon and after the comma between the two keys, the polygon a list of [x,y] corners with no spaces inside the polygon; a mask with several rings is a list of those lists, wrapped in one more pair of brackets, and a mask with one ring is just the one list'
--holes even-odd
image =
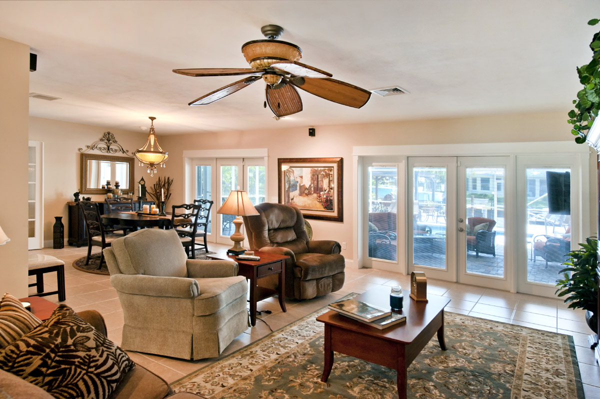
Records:
{"label": "brown leather recliner beside the table lamp", "polygon": [[256,205],[258,215],[245,216],[250,248],[287,255],[286,296],[310,299],[344,286],[344,257],[337,241],[310,241],[298,208],[278,203]]}

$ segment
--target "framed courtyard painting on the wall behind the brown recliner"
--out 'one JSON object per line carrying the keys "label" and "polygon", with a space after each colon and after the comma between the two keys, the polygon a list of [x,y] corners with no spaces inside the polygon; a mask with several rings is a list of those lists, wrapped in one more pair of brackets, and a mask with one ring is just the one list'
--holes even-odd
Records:
{"label": "framed courtyard painting on the wall behind the brown recliner", "polygon": [[279,203],[306,219],[344,221],[343,158],[278,158]]}

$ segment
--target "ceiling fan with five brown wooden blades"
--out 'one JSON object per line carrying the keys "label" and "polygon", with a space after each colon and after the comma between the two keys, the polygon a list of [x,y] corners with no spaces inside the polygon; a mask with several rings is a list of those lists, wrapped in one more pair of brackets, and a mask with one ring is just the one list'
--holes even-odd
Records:
{"label": "ceiling fan with five brown wooden blades", "polygon": [[370,91],[331,79],[331,73],[298,62],[298,59],[302,58],[300,47],[287,41],[277,40],[283,34],[281,26],[265,25],[260,31],[265,35],[266,40],[248,41],[242,46],[242,53],[250,68],[173,70],[175,73],[187,76],[250,75],[203,95],[188,105],[214,103],[249,86],[261,77],[266,82],[265,108],[269,104],[271,111],[278,117],[292,115],[302,110],[302,100],[296,88],[325,100],[355,108],[364,106],[371,97]]}

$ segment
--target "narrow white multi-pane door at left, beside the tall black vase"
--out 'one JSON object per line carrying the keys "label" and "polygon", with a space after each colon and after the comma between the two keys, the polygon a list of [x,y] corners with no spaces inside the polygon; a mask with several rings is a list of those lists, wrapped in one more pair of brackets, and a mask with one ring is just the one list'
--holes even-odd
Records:
{"label": "narrow white multi-pane door at left, beside the tall black vase", "polygon": [[28,170],[28,248],[38,250],[44,247],[44,143],[29,142]]}

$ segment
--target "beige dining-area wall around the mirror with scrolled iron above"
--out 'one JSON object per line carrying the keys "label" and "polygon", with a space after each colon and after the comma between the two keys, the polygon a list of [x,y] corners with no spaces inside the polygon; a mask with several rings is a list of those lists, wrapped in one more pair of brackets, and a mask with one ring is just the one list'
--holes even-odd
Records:
{"label": "beige dining-area wall around the mirror with scrolled iron above", "polygon": [[[43,101],[43,100],[35,100]],[[44,246],[52,246],[52,226],[55,216],[62,216],[65,225],[65,244],[68,236],[67,202],[73,201],[73,193],[80,188],[80,157],[78,148],[85,149],[100,140],[102,135],[110,131],[124,149],[133,154],[148,137],[143,131],[131,132],[110,127],[74,124],[54,121],[52,119],[29,118],[29,140],[44,142]],[[98,150],[86,154],[100,154]],[[124,157],[124,154],[115,154]],[[144,176],[150,182],[149,173],[143,167],[136,166],[135,179]],[[92,197],[92,200],[103,201],[104,195],[82,194],[81,197]]]}

